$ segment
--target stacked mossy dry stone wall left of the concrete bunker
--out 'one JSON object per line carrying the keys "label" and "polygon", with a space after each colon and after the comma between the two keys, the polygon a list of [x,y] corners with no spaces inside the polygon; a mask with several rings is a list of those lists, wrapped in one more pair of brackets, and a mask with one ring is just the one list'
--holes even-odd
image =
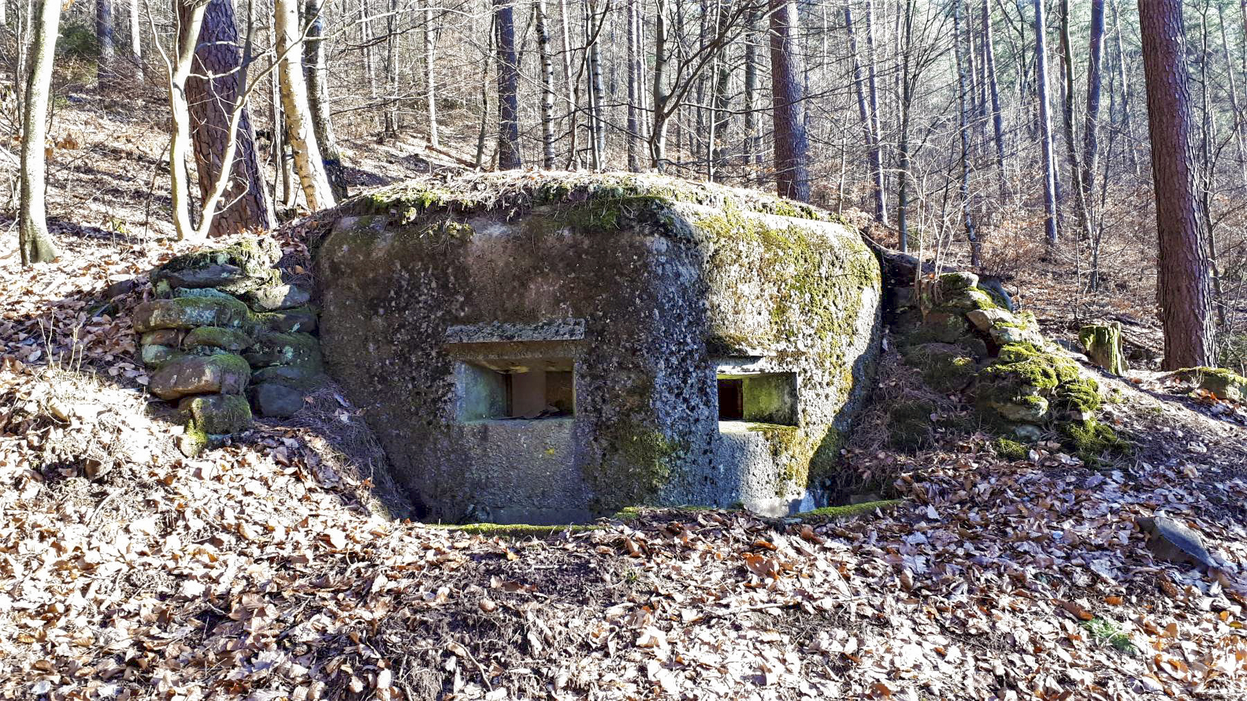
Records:
{"label": "stacked mossy dry stone wall left of the concrete bunker", "polygon": [[264,238],[178,256],[133,311],[148,389],[177,403],[188,455],[247,430],[253,412],[294,414],[323,378],[311,294],[282,282],[279,257]]}

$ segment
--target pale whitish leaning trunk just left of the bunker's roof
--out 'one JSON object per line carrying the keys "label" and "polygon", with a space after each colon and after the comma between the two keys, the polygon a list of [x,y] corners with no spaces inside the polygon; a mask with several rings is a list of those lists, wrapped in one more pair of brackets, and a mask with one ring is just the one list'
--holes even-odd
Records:
{"label": "pale whitish leaning trunk just left of the bunker's roof", "polygon": [[294,170],[298,171],[308,210],[314,212],[333,207],[334,197],[329,177],[324,172],[324,161],[315,137],[312,110],[308,107],[308,90],[303,80],[303,35],[299,31],[299,9],[297,0],[273,1],[273,31],[277,37],[277,54],[282,56],[279,72],[286,133],[291,141],[291,151],[294,153]]}

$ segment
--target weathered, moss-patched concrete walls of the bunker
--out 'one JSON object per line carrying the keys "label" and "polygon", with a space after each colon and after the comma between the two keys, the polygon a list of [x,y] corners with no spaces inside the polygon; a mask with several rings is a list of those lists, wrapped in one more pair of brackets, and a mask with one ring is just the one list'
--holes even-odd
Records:
{"label": "weathered, moss-patched concrete walls of the bunker", "polygon": [[[875,258],[854,231],[761,193],[483,175],[358,197],[312,226],[328,367],[431,519],[787,511],[817,500],[870,380]],[[481,403],[465,388],[493,380],[465,359],[566,363],[575,415],[471,420],[488,408],[465,414]],[[796,425],[721,427],[720,368],[792,373]]]}

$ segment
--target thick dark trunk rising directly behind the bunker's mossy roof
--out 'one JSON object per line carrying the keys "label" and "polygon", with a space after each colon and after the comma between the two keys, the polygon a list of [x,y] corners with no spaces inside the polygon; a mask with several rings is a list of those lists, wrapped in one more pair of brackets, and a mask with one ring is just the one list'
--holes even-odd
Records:
{"label": "thick dark trunk rising directly behind the bunker's mossy roof", "polygon": [[809,141],[801,84],[801,30],[796,0],[771,0],[771,118],[776,140],[776,188],[809,202]]}

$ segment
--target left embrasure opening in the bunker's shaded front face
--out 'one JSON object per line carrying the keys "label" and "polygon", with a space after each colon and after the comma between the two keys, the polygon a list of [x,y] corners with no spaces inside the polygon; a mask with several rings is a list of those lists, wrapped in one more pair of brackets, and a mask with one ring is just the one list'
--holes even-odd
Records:
{"label": "left embrasure opening in the bunker's shaded front face", "polygon": [[461,362],[458,375],[460,420],[554,419],[576,413],[570,358],[525,358],[503,365]]}

